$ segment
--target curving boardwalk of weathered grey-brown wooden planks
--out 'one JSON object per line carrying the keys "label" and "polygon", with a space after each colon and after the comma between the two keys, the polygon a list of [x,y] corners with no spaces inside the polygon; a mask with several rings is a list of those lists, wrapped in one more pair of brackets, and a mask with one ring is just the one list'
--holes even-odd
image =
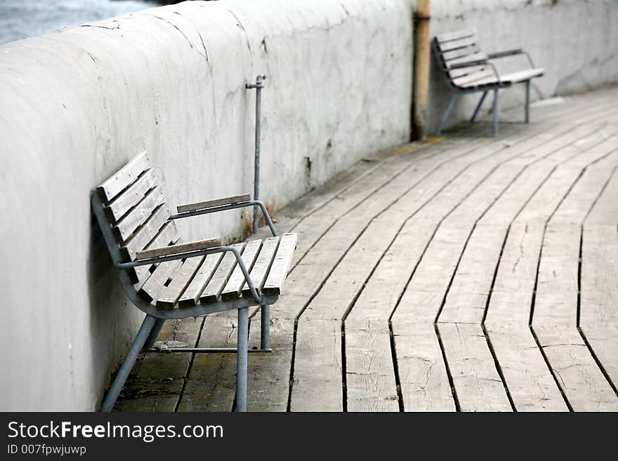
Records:
{"label": "curving boardwalk of weathered grey-brown wooden planks", "polygon": [[[280,211],[298,249],[249,410],[618,410],[617,100],[394,149]],[[159,339],[234,347],[235,323]],[[228,411],[234,394],[233,354],[150,354],[116,409]]]}

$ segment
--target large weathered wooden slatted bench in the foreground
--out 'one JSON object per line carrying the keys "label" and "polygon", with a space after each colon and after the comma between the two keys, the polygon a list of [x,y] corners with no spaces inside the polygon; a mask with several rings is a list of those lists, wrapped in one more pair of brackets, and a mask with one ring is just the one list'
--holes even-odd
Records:
{"label": "large weathered wooden slatted bench in the foreground", "polygon": [[[270,352],[270,305],[281,293],[296,234],[277,236],[264,204],[249,194],[179,206],[172,214],[161,173],[145,152],[97,187],[91,203],[126,295],[146,313],[101,409],[112,410],[138,354],[159,350],[153,345],[166,319],[237,309],[237,349],[166,352],[237,352],[236,410],[246,410],[248,308],[261,306],[261,347],[250,352]],[[261,208],[272,237],[234,245],[180,240],[176,220],[247,206]]]}

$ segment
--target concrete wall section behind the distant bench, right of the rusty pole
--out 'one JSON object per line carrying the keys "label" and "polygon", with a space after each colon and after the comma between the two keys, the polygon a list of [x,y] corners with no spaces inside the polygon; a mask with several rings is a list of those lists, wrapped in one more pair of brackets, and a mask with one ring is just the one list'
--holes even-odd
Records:
{"label": "concrete wall section behind the distant bench, right of the rusty pole", "polygon": [[[466,0],[433,1],[431,35],[458,29],[478,30],[488,53],[522,47],[544,76],[532,80],[532,100],[587,91],[618,81],[618,2],[615,0]],[[528,66],[525,56],[497,60],[498,68]],[[449,125],[469,119],[481,93],[459,98]],[[433,61],[428,102],[430,129],[438,126],[450,97]],[[521,105],[525,86],[501,92],[502,107]],[[489,95],[483,106],[491,109]],[[523,112],[523,111],[522,111]],[[517,114],[515,114],[517,115]],[[522,120],[523,113],[513,120]]]}

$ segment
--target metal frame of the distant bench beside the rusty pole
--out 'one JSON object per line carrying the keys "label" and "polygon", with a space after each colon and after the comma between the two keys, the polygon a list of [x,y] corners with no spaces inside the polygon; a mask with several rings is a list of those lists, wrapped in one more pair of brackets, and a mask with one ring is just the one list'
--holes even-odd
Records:
{"label": "metal frame of the distant bench beside the rusty pole", "polygon": [[[490,60],[498,59],[498,58],[506,58],[508,56],[515,56],[515,55],[525,55],[528,59],[528,62],[530,62],[530,67],[534,68],[534,62],[532,62],[532,58],[530,58],[530,55],[526,51],[523,51],[521,48],[516,48],[514,50],[501,51],[499,53],[488,54],[487,59],[485,60],[466,62],[465,64],[462,64],[462,65],[454,65],[452,67],[447,67],[445,60],[442,58],[442,52],[440,51],[440,48],[438,45],[438,37],[434,37],[433,40],[431,41],[431,48],[433,49],[433,54],[435,55],[436,60],[438,60],[438,66],[440,67],[442,74],[445,76],[447,85],[449,86],[449,88],[451,88],[451,98],[449,100],[449,104],[447,105],[447,109],[445,110],[444,114],[442,114],[442,118],[440,119],[440,124],[438,125],[438,129],[436,130],[435,134],[440,135],[440,133],[442,133],[442,130],[444,129],[447,123],[447,120],[449,119],[449,116],[455,106],[455,102],[457,98],[459,98],[460,94],[478,93],[482,91],[480,100],[478,101],[474,109],[474,113],[472,114],[472,117],[470,119],[471,122],[474,122],[476,119],[476,116],[478,115],[478,112],[480,110],[482,103],[485,101],[485,97],[487,96],[487,93],[489,91],[493,91],[494,92],[494,107],[492,111],[493,112],[492,113],[493,115],[493,135],[497,136],[498,135],[498,122],[499,122],[499,90],[501,88],[509,88],[513,86],[513,84],[510,82],[505,83],[501,80],[500,74],[498,73],[494,63],[491,62]],[[486,65],[486,66],[491,67],[494,72],[494,75],[496,76],[497,82],[487,83],[484,86],[479,86],[476,88],[462,88],[461,86],[457,86],[456,84],[453,83],[451,77],[449,76],[449,70],[458,69],[460,67],[473,66],[473,65]],[[530,80],[531,79],[527,79],[525,81],[525,84],[526,84],[526,100],[525,100],[525,106],[524,106],[525,123],[530,123]]]}

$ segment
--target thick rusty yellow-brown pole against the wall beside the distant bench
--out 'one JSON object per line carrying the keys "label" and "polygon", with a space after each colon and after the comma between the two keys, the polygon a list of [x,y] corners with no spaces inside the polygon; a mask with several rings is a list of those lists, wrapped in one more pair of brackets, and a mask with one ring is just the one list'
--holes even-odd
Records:
{"label": "thick rusty yellow-brown pole against the wall beside the distant bench", "polygon": [[429,88],[430,0],[418,0],[414,13],[414,75],[412,95],[412,140],[427,139],[427,91]]}

